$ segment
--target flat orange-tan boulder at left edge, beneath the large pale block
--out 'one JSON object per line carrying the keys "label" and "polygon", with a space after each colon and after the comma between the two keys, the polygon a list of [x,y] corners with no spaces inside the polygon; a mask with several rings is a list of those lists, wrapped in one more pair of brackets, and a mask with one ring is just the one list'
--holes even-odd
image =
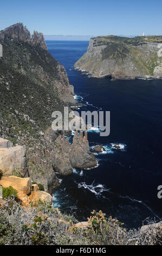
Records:
{"label": "flat orange-tan boulder at left edge, beneath the large pale block", "polygon": [[29,195],[31,192],[30,178],[20,178],[17,176],[2,176],[2,179],[0,180],[0,185],[2,187],[12,186],[15,188],[15,190],[17,190],[17,192],[21,192],[25,195]]}

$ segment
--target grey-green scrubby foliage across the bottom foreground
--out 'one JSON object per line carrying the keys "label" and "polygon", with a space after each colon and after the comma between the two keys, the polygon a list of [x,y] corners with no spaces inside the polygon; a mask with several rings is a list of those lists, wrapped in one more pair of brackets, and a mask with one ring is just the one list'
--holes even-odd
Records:
{"label": "grey-green scrubby foliage across the bottom foreground", "polygon": [[94,210],[89,227],[81,229],[75,228],[74,216],[41,201],[24,209],[9,199],[0,210],[0,245],[162,245],[160,229],[149,225],[144,232],[126,230],[102,211]]}

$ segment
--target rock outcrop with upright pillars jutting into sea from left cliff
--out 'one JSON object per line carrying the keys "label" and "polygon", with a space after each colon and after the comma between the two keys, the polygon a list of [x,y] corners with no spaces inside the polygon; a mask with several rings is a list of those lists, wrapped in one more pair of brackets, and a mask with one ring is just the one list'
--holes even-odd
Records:
{"label": "rock outcrop with upright pillars jutting into sea from left cliff", "polygon": [[61,175],[70,175],[73,168],[87,169],[96,166],[95,156],[90,152],[87,139],[87,132],[83,136],[83,132],[75,132],[73,143],[69,142],[64,135],[60,135],[56,141],[51,155],[53,168],[55,172]]}

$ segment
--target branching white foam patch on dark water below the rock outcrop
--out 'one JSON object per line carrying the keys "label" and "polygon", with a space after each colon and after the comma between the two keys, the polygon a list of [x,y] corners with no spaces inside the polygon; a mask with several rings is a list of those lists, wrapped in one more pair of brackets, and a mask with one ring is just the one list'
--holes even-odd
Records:
{"label": "branching white foam patch on dark water below the rock outcrop", "polygon": [[78,188],[85,188],[86,190],[89,190],[90,192],[94,193],[96,196],[99,196],[104,191],[109,191],[109,189],[105,188],[104,185],[98,184],[94,186],[94,181],[92,184],[87,185],[86,182],[80,182],[77,184]]}

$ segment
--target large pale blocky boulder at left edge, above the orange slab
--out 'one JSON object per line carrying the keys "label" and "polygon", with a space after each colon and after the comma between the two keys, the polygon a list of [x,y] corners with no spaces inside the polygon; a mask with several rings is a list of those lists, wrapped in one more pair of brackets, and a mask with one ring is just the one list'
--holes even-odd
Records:
{"label": "large pale blocky boulder at left edge, above the orange slab", "polygon": [[16,170],[18,174],[25,176],[27,173],[26,150],[19,145],[0,148],[0,170],[2,170],[3,175],[12,175]]}

